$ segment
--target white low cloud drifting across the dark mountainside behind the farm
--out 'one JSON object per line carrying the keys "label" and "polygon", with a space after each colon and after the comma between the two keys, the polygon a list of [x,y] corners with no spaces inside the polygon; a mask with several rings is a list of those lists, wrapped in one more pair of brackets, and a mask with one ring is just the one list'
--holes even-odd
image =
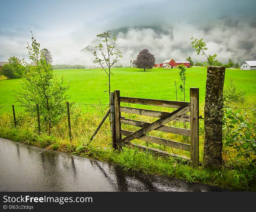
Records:
{"label": "white low cloud drifting across the dark mountainside behind the farm", "polygon": [[[130,60],[136,59],[138,52],[147,48],[156,58],[156,63],[166,59],[186,60],[191,56],[194,62],[205,62],[207,58],[197,55],[192,48],[190,38],[203,38],[207,44],[208,55],[217,54],[217,60],[227,63],[229,58],[234,62],[256,59],[256,28],[249,24],[237,22],[232,26],[227,25],[225,19],[215,22],[210,29],[199,28],[186,23],[169,27],[162,27],[161,32],[153,28],[128,28],[127,32],[120,32],[116,46],[122,51],[123,58],[118,62],[123,66],[129,66]],[[246,33],[245,33],[246,32]],[[90,64],[93,54],[93,42],[84,51]]]}

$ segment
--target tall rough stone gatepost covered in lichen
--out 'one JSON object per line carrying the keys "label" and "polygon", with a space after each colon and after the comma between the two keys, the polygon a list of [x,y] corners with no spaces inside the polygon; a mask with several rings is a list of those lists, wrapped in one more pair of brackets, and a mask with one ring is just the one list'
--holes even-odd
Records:
{"label": "tall rough stone gatepost covered in lichen", "polygon": [[203,166],[214,170],[222,167],[222,109],[224,66],[208,66],[205,88],[205,141]]}

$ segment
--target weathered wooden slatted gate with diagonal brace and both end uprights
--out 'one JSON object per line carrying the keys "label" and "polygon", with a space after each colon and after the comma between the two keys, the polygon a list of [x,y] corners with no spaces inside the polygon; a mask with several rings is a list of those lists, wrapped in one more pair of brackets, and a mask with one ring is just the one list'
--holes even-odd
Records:
{"label": "weathered wooden slatted gate with diagonal brace and both end uprights", "polygon": [[[131,107],[120,107],[120,103],[133,103],[140,105],[152,105],[160,107],[171,107],[177,108],[175,111],[161,112],[153,111],[147,109],[138,109]],[[147,148],[143,145],[138,145],[131,143],[133,139],[140,139],[150,143],[157,143],[172,148],[177,148],[190,152],[190,158],[180,156],[177,154],[169,153],[170,155],[176,157],[182,157],[192,161],[194,166],[198,166],[199,157],[199,89],[190,88],[190,102],[178,102],[178,101],[168,101],[168,100],[156,100],[156,99],[143,99],[143,98],[132,98],[120,96],[120,91],[115,90],[111,93],[111,136],[113,148],[118,149],[121,145],[126,145],[129,148],[137,146],[139,148]],[[135,121],[131,119],[126,119],[121,116],[121,112],[138,114],[143,116],[151,116],[159,118],[153,123],[147,123],[142,121]],[[186,114],[190,112],[190,115]],[[178,128],[166,126],[165,124],[170,121],[183,121],[190,122],[190,129]],[[122,130],[122,124],[128,124],[136,127],[141,127],[140,130],[136,132],[131,132],[127,130]],[[166,139],[161,139],[149,135],[146,133],[157,130],[161,132],[179,134],[190,136],[190,144],[180,143],[176,141],[170,141]],[[125,136],[122,138],[122,136]],[[153,149],[153,148],[151,148]]]}

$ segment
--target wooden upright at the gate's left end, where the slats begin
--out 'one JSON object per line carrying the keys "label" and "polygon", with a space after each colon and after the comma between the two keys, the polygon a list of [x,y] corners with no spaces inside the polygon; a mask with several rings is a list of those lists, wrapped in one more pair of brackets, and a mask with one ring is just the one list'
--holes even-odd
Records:
{"label": "wooden upright at the gate's left end, where the slats begin", "polygon": [[122,135],[120,133],[121,123],[120,123],[120,90],[114,90],[114,100],[115,100],[115,143],[117,145],[117,149],[120,148],[120,140],[122,139]]}

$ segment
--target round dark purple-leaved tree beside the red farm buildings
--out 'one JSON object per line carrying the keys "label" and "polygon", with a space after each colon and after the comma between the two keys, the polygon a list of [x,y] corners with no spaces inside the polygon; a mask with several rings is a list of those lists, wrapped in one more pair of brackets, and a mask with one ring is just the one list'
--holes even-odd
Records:
{"label": "round dark purple-leaved tree beside the red farm buildings", "polygon": [[155,57],[152,55],[148,49],[142,49],[136,58],[135,64],[139,69],[152,69],[155,65]]}

